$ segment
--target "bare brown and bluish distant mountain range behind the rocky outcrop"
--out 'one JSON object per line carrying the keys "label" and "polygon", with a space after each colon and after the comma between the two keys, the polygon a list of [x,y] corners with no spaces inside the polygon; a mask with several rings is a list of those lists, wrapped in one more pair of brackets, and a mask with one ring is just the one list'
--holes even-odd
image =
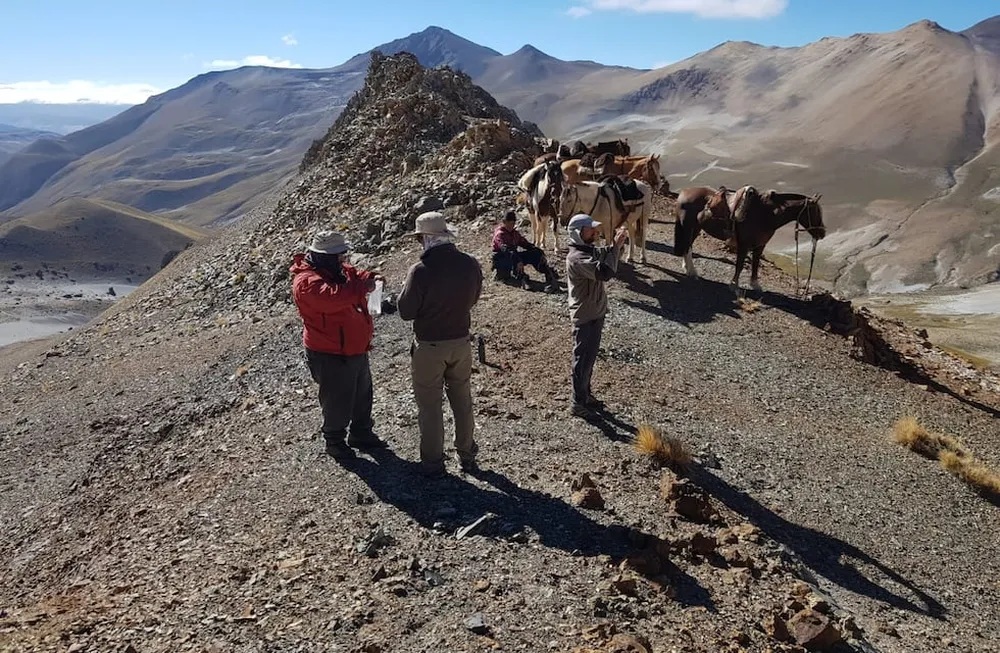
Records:
{"label": "bare brown and bluish distant mountain range behind the rocky outcrop", "polygon": [[[549,136],[628,137],[663,156],[674,187],[823,193],[832,233],[821,272],[846,292],[981,283],[1000,270],[1000,17],[797,48],[727,42],[656,70],[530,45],[503,55],[440,27],[377,49],[468,72]],[[0,165],[0,211],[29,216],[82,195],[229,222],[294,176],[367,65],[361,53],[323,70],[200,75],[12,156]]]}

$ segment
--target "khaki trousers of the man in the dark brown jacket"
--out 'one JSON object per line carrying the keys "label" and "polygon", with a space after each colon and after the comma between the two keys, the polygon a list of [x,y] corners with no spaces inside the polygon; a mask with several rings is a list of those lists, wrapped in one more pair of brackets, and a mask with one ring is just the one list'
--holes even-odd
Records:
{"label": "khaki trousers of the man in the dark brown jacket", "polygon": [[413,395],[420,425],[420,462],[427,468],[444,465],[442,390],[455,417],[455,450],[462,460],[474,460],[472,343],[468,338],[427,342],[414,340],[410,350]]}

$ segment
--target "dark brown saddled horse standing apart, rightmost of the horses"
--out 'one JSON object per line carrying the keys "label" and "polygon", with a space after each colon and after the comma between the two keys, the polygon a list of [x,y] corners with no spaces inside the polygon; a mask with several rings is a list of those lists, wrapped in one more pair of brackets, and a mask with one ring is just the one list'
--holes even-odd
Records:
{"label": "dark brown saddled horse standing apart, rightmost of the horses", "polygon": [[[739,287],[740,274],[751,256],[750,285],[760,289],[758,273],[764,247],[774,233],[795,221],[796,232],[803,230],[813,237],[813,254],[816,242],[826,236],[820,195],[799,193],[759,193],[753,186],[729,190],[707,186],[685,188],[677,196],[677,218],[674,223],[674,254],[684,257],[684,271],[697,278],[691,247],[698,233],[704,230],[719,240],[736,241],[736,270],[729,287]],[[796,234],[797,236],[797,234]],[[811,275],[810,264],[810,275]]]}

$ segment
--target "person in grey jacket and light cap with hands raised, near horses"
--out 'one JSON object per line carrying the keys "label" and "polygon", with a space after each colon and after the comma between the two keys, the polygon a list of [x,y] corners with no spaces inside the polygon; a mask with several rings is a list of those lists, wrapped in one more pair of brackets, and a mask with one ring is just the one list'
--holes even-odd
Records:
{"label": "person in grey jacket and light cap with hands raised, near horses", "polygon": [[604,407],[591,392],[590,379],[601,346],[604,316],[608,312],[604,283],[618,272],[618,259],[628,236],[622,228],[615,233],[610,247],[595,247],[599,226],[600,222],[585,213],[573,216],[567,226],[566,278],[573,319],[573,404],[570,412],[587,420],[596,419],[595,411]]}

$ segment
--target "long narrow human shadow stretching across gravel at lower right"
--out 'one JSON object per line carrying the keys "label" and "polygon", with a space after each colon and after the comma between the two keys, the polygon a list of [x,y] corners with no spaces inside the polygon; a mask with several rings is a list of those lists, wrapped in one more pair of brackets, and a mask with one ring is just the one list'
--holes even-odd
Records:
{"label": "long narrow human shadow stretching across gravel at lower right", "polygon": [[[716,499],[755,524],[767,537],[785,545],[813,572],[846,590],[894,608],[943,619],[946,610],[937,600],[856,546],[788,521],[746,492],[734,488],[702,467],[693,465],[686,475]],[[883,582],[880,584],[869,578],[852,562],[873,567],[883,577]],[[893,591],[888,587],[890,583],[904,591]],[[910,596],[904,595],[907,593]]]}

